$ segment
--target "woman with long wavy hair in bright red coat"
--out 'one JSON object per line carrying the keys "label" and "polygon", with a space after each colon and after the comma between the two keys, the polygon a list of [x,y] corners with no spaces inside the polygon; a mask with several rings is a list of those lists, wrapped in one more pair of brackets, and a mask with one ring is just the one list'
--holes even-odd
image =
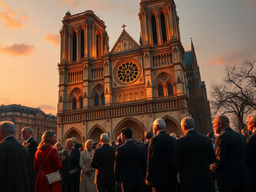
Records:
{"label": "woman with long wavy hair in bright red coat", "polygon": [[[61,192],[59,181],[51,185],[47,185],[46,179],[44,176],[49,173],[53,173],[56,170],[60,170],[62,167],[62,164],[59,161],[59,155],[57,150],[55,148],[52,149],[51,147],[51,145],[54,145],[56,141],[57,141],[57,138],[56,138],[55,132],[45,131],[44,134],[42,135],[42,141],[39,143],[37,147],[37,151],[35,154],[35,161],[34,161],[34,169],[38,171],[37,178],[36,178],[36,192],[46,192],[46,191]],[[46,158],[48,153],[49,155]],[[40,166],[43,174],[41,173],[41,171],[39,171]]]}

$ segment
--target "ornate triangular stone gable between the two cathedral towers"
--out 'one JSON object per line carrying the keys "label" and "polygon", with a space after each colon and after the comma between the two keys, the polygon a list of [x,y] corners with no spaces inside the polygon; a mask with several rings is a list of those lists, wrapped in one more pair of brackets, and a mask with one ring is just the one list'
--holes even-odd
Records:
{"label": "ornate triangular stone gable between the two cathedral towers", "polygon": [[124,29],[119,38],[117,39],[117,42],[115,43],[113,49],[111,50],[111,53],[117,53],[138,48],[140,48],[140,46]]}

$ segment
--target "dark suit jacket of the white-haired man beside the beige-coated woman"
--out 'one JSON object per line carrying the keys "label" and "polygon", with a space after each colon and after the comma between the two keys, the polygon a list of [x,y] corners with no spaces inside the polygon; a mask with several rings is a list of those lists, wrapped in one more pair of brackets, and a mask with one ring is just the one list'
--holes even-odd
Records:
{"label": "dark suit jacket of the white-haired man beside the beige-coated woman", "polygon": [[116,149],[108,143],[94,149],[90,162],[90,166],[96,169],[94,183],[115,182],[115,152]]}

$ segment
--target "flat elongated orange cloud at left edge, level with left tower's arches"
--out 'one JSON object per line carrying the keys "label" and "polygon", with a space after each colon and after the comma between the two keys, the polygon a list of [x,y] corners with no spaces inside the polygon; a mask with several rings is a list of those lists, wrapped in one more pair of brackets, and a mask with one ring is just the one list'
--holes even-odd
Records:
{"label": "flat elongated orange cloud at left edge, level with left tower's arches", "polygon": [[0,52],[10,54],[11,57],[26,56],[34,53],[36,48],[29,44],[13,44],[12,46],[5,46],[0,48]]}

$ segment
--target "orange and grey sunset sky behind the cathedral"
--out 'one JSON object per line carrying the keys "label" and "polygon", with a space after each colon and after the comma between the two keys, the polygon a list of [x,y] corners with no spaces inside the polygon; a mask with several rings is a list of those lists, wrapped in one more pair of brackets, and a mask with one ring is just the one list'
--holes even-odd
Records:
{"label": "orange and grey sunset sky behind the cathedral", "polygon": [[[139,42],[140,0],[0,0],[0,104],[41,107],[57,113],[61,20],[92,10],[105,22],[109,46],[121,26]],[[220,81],[224,64],[256,57],[255,0],[176,0],[182,45],[190,37],[207,90]],[[209,96],[210,97],[210,96]]]}

